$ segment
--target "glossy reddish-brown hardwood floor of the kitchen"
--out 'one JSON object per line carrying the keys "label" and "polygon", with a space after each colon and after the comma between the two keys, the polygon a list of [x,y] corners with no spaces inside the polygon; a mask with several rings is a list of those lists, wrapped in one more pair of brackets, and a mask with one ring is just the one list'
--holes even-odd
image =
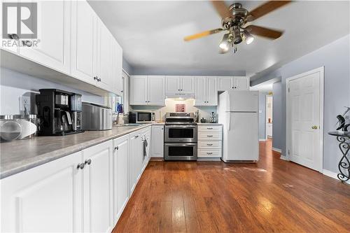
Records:
{"label": "glossy reddish-brown hardwood floor of the kitchen", "polygon": [[350,232],[350,185],[279,159],[152,161],[113,232]]}

